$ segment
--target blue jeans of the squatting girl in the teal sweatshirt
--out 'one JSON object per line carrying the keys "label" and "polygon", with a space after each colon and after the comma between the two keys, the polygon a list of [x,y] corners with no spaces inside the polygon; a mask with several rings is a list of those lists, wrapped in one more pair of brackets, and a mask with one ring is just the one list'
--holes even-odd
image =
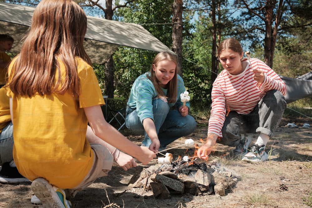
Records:
{"label": "blue jeans of the squatting girl in the teal sweatshirt", "polygon": [[[196,121],[192,116],[181,116],[179,111],[171,110],[168,103],[159,98],[153,99],[152,104],[154,124],[158,134],[160,147],[166,147],[174,140],[193,133],[196,129]],[[144,135],[142,143],[146,147],[149,147],[152,141],[146,134],[136,109],[127,106],[125,125],[131,131],[138,133],[139,135]]]}

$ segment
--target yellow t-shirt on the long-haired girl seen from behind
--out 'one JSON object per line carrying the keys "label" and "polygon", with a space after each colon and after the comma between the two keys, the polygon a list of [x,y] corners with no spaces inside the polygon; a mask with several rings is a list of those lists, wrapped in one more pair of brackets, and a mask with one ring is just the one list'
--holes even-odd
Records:
{"label": "yellow t-shirt on the long-haired girl seen from behind", "polygon": [[[12,97],[13,157],[18,171],[31,181],[43,177],[62,189],[79,185],[92,167],[94,155],[85,138],[88,120],[83,108],[104,104],[92,67],[80,58],[77,63],[79,99],[68,93],[32,97],[7,93]],[[64,78],[65,68],[60,65]]]}

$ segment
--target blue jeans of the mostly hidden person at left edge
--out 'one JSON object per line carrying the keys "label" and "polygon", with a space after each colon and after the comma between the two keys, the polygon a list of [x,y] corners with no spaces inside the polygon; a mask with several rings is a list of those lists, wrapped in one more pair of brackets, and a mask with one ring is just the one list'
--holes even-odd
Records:
{"label": "blue jeans of the mostly hidden person at left edge", "polygon": [[0,133],[0,166],[13,160],[13,123],[10,122]]}

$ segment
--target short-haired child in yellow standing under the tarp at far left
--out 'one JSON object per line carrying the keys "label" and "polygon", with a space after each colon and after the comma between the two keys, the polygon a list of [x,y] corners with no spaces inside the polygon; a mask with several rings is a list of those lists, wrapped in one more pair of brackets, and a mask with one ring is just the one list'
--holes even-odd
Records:
{"label": "short-haired child in yellow standing under the tarp at far left", "polygon": [[9,65],[11,58],[5,52],[10,51],[14,39],[6,34],[0,34],[0,87],[6,83],[7,66]]}

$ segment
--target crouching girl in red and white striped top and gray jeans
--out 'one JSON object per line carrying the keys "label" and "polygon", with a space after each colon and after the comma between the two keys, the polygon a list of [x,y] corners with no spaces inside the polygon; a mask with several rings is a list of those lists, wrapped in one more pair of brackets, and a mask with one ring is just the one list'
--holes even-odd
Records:
{"label": "crouching girl in red and white striped top and gray jeans", "polygon": [[[207,143],[197,155],[207,159],[218,142],[236,147],[234,153],[243,161],[266,161],[266,143],[286,108],[285,83],[263,61],[243,58],[241,45],[233,38],[221,42],[217,57],[224,70],[213,83]],[[259,134],[249,151],[247,133]]]}

